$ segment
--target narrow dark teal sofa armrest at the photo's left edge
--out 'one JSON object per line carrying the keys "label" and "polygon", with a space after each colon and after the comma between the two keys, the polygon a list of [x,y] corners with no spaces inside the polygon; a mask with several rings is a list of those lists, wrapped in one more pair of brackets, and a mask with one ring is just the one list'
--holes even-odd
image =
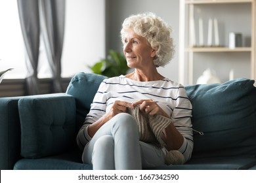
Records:
{"label": "narrow dark teal sofa armrest at the photo's left edge", "polygon": [[13,169],[20,159],[20,120],[18,100],[21,97],[0,98],[0,169]]}

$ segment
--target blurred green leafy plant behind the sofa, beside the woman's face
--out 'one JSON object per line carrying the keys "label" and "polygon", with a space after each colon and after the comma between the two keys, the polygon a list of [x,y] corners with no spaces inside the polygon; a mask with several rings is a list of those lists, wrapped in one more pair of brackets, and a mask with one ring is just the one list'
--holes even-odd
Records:
{"label": "blurred green leafy plant behind the sofa, beside the woman's face", "polygon": [[107,77],[127,74],[130,69],[125,57],[116,50],[110,50],[107,58],[100,59],[93,66],[89,66],[93,73]]}

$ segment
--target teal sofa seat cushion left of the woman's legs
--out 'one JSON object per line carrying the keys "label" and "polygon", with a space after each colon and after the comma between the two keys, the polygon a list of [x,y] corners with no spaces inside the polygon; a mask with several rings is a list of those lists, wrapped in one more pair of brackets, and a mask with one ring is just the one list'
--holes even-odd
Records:
{"label": "teal sofa seat cushion left of the woman's legs", "polygon": [[84,170],[92,169],[91,165],[81,162],[78,150],[40,159],[20,159],[14,165],[15,170]]}

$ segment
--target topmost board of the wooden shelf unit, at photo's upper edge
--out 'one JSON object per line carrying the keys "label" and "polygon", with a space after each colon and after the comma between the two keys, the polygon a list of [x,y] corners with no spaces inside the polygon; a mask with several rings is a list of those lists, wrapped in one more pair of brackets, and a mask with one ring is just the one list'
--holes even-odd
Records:
{"label": "topmost board of the wooden shelf unit, at photo's upper edge", "polygon": [[185,0],[186,4],[252,3],[253,0]]}

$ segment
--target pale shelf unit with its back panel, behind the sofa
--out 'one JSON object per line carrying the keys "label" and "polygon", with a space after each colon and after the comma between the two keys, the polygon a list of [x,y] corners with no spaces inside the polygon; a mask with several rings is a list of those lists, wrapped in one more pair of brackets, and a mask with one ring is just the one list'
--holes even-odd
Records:
{"label": "pale shelf unit with its back panel, behind the sofa", "polygon": [[[207,46],[205,35],[203,35],[204,45],[198,44],[199,18],[203,21],[209,18],[221,20],[219,22],[221,46],[214,44]],[[207,23],[203,24],[203,29],[208,28]],[[246,46],[228,47],[228,33],[232,31],[242,33],[244,42],[242,45]],[[194,84],[206,67],[215,69],[223,82],[228,79],[226,73],[230,69],[234,70],[236,77],[256,80],[256,0],[180,0],[179,33],[181,84]],[[191,37],[193,34],[195,37]],[[196,46],[192,46],[193,44]],[[215,60],[221,60],[221,63],[215,63]]]}

